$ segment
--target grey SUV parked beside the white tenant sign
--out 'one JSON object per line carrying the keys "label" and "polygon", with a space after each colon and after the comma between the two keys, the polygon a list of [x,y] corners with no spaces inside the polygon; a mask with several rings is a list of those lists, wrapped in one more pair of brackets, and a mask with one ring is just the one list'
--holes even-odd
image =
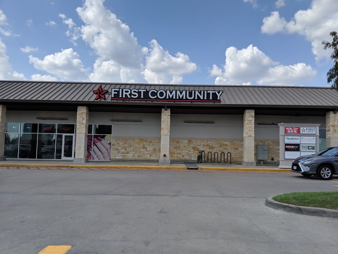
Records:
{"label": "grey SUV parked beside the white tenant sign", "polygon": [[332,175],[338,174],[338,147],[300,156],[292,162],[291,170],[307,177],[315,175],[319,179],[330,180]]}

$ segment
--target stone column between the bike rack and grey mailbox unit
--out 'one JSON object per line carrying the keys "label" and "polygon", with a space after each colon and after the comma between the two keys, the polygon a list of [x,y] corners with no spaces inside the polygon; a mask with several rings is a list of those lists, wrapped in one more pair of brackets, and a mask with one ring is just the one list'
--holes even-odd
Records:
{"label": "stone column between the bike rack and grey mailbox unit", "polygon": [[242,166],[256,166],[255,162],[255,110],[244,110]]}

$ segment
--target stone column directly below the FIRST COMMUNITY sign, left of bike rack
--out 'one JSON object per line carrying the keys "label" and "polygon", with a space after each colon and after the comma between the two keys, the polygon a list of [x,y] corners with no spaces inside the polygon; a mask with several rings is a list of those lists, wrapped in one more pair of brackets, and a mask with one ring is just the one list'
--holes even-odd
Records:
{"label": "stone column directly below the FIRST COMMUNITY sign, left of bike rack", "polygon": [[161,113],[161,155],[159,164],[170,165],[169,158],[170,109],[162,108]]}

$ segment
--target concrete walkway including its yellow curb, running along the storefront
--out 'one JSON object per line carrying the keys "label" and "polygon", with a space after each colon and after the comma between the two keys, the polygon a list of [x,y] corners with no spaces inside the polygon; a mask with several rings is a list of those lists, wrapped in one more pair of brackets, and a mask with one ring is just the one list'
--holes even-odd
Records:
{"label": "concrete walkway including its yellow curb, running along the storefront", "polygon": [[90,161],[84,164],[61,160],[6,160],[0,167],[44,167],[44,168],[138,168],[138,169],[198,169],[227,171],[275,171],[291,172],[291,169],[280,169],[278,164],[257,164],[255,167],[242,166],[240,163],[185,163],[172,162],[170,166],[159,165],[156,161]]}

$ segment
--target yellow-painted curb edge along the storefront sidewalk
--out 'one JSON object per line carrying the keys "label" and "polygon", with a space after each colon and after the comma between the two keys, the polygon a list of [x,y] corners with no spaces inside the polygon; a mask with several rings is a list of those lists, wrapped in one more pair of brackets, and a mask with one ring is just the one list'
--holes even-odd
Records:
{"label": "yellow-painted curb edge along the storefront sidewalk", "polygon": [[[191,167],[172,166],[117,166],[117,165],[50,165],[50,164],[0,164],[0,167],[30,167],[30,168],[122,168],[122,169],[180,169],[187,170]],[[195,169],[195,168],[194,168]],[[268,168],[213,168],[198,167],[198,170],[219,170],[219,171],[253,171],[253,172],[291,172],[290,169],[268,169]]]}

